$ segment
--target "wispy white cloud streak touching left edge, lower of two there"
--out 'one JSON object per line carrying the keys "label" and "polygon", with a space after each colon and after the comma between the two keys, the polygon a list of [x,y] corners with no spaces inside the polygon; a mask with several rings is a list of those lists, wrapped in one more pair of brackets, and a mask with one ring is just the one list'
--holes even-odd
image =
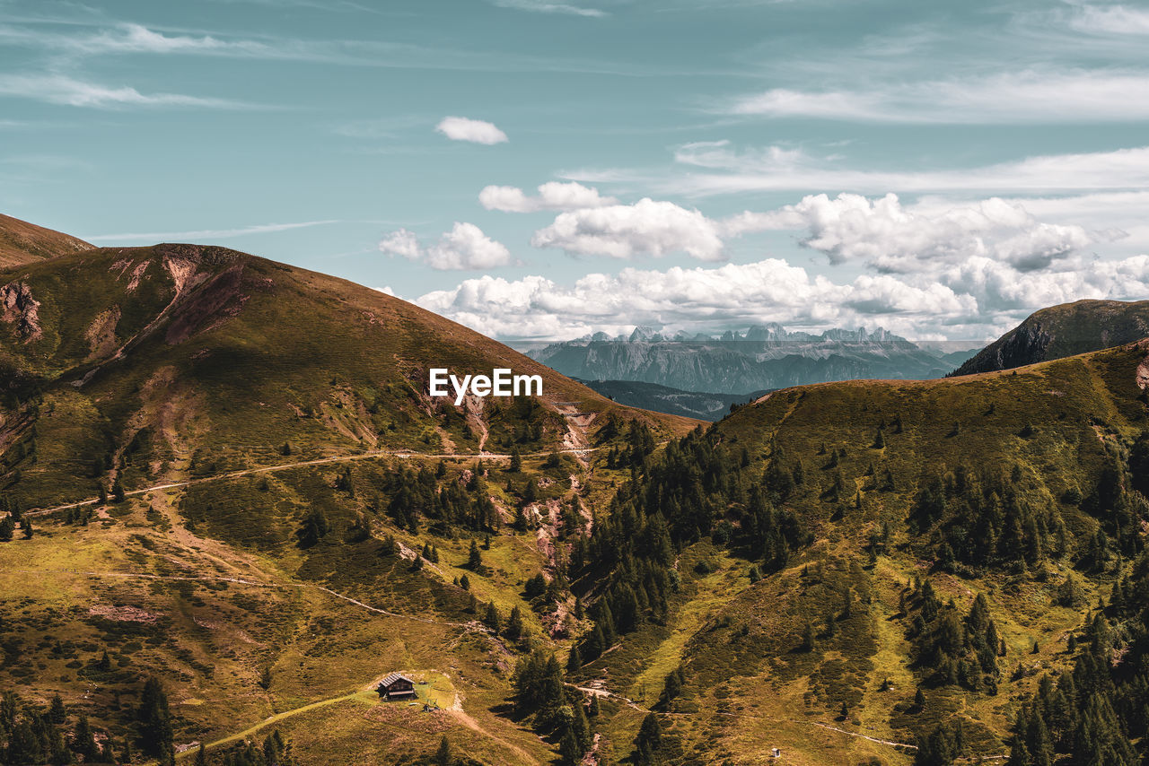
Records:
{"label": "wispy white cloud streak touching left edge, lower of two there", "polygon": [[0,75],[0,96],[10,95],[70,107],[208,107],[247,108],[225,99],[203,99],[178,93],[140,93],[133,87],[109,87],[65,75]]}

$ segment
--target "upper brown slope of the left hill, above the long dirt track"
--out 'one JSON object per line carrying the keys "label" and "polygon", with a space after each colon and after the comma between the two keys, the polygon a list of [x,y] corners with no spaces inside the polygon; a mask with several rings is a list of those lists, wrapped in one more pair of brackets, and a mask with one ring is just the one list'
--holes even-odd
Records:
{"label": "upper brown slope of the left hill, above the long dirt track", "polygon": [[[527,452],[587,446],[611,412],[661,439],[695,425],[615,404],[399,299],[225,248],[101,248],[2,284],[22,297],[0,317],[0,450],[25,506],[116,477],[132,488],[282,463],[288,443],[296,459]],[[427,396],[432,366],[539,374],[543,396],[456,408]]]}

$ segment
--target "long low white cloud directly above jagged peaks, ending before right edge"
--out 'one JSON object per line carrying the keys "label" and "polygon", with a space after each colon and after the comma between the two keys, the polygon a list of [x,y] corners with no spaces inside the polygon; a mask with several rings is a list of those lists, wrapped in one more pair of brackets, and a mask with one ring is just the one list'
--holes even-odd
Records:
{"label": "long low white cloud directly above jagged peaks, ending before right edge", "polygon": [[781,260],[665,271],[592,273],[572,286],[545,277],[485,276],[416,301],[476,330],[501,336],[563,339],[635,324],[728,327],[748,323],[834,326],[872,322],[910,328],[915,318],[966,316],[976,302],[943,285],[918,287],[893,277],[835,284]]}

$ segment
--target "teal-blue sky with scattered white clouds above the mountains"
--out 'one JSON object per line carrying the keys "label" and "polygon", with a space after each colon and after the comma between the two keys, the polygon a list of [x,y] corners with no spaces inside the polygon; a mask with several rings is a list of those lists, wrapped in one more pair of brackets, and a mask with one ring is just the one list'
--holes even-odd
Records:
{"label": "teal-blue sky with scattered white clouds above the mountains", "polygon": [[1149,3],[0,0],[0,211],[508,341],[1149,299]]}

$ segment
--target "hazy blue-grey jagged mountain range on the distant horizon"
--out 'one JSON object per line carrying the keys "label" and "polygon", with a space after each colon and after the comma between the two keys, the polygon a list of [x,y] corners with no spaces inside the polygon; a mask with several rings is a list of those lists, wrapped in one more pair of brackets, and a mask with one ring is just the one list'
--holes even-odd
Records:
{"label": "hazy blue-grey jagged mountain range on the distant horizon", "polygon": [[815,335],[770,324],[717,338],[664,336],[637,327],[630,335],[595,333],[526,353],[581,380],[640,381],[683,392],[746,396],[834,380],[940,378],[977,350],[923,348],[881,328]]}

